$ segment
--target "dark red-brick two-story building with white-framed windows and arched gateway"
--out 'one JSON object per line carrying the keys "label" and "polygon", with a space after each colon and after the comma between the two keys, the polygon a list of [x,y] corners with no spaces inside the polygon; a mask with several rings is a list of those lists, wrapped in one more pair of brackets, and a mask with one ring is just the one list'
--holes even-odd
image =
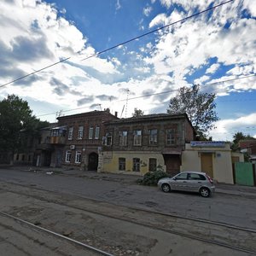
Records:
{"label": "dark red-brick two-story building with white-framed windows and arched gateway", "polygon": [[79,166],[96,171],[104,123],[114,119],[118,119],[117,114],[108,110],[59,117],[58,126],[50,134],[50,144],[54,146],[50,166]]}

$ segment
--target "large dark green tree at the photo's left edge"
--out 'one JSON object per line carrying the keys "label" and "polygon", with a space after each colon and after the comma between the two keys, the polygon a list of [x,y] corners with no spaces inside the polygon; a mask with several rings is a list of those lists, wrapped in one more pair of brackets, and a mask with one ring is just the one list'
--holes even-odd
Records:
{"label": "large dark green tree at the photo's left edge", "polygon": [[48,122],[41,122],[32,115],[26,101],[9,95],[0,102],[0,150],[9,154],[12,163],[14,154],[25,150],[38,130],[47,125]]}

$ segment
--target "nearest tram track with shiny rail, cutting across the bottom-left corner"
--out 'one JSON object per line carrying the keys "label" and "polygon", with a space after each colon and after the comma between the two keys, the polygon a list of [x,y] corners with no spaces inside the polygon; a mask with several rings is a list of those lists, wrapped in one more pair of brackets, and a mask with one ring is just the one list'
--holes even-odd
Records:
{"label": "nearest tram track with shiny rail, cutting across the bottom-left corner", "polygon": [[[76,241],[67,236],[62,236],[61,234],[39,227],[38,225],[32,224],[21,218],[17,218],[9,213],[0,211],[0,216],[5,218],[4,222],[0,222],[0,228],[4,230],[5,234],[8,234],[8,241],[6,243],[18,249],[19,253],[21,254],[24,253],[26,255],[41,255],[41,253],[50,253],[50,255],[68,256],[70,253],[82,252],[83,254],[86,253],[86,255],[90,256],[113,256],[113,254],[104,252],[99,248],[91,247],[88,244]],[[6,218],[15,221],[15,224],[9,224],[9,220],[6,220]],[[18,223],[20,226],[17,225]],[[47,236],[40,236],[40,232],[45,233]],[[15,234],[13,235],[13,237],[15,237],[13,240],[10,239],[11,233]],[[49,239],[51,242],[49,242]],[[59,240],[66,241],[66,244],[63,245],[63,242]],[[21,243],[23,242],[26,244],[31,244],[34,248],[30,249],[29,247],[22,247]],[[72,243],[74,246],[68,247],[68,243]],[[40,252],[37,246],[40,247]],[[80,248],[77,250],[77,247]],[[9,252],[5,252],[4,255],[9,255]]]}

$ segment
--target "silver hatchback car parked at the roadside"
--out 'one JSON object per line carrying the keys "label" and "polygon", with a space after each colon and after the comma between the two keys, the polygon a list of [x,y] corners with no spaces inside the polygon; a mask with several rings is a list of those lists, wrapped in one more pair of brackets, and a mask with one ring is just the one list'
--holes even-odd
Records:
{"label": "silver hatchback car parked at the roadside", "polygon": [[174,177],[164,177],[158,182],[164,192],[181,190],[198,192],[203,197],[208,197],[214,192],[215,186],[212,177],[205,172],[181,172]]}

